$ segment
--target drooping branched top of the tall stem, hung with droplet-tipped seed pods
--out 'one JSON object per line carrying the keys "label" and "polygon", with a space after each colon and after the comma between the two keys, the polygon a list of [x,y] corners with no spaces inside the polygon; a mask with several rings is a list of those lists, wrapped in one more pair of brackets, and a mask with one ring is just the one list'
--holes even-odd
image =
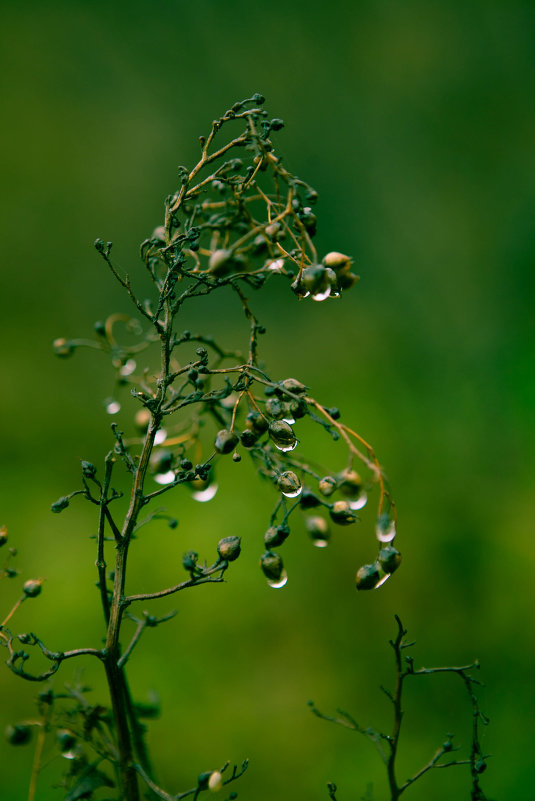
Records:
{"label": "drooping branched top of the tall stem, hung with droplet-tipped seed pods", "polygon": [[[166,199],[163,224],[141,244],[141,259],[155,288],[151,299],[141,301],[128,275],[120,274],[111,258],[112,243],[95,242],[148,327],[116,314],[96,324],[96,341],[57,339],[54,348],[58,356],[70,356],[80,345],[108,352],[119,385],[132,387],[140,404],[135,423],[142,436],[124,438],[114,424],[115,452],[132,473],[139,473],[143,453],[148,452],[149,472],[160,488],[144,495],[144,503],[178,484],[193,489],[197,500],[209,500],[217,488],[214,457],[232,453],[239,461],[240,452],[249,451],[256,470],[280,491],[261,558],[272,586],[282,586],[286,580],[274,548],[290,533],[288,519],[297,507],[323,507],[334,523],[349,525],[356,522],[356,510],[365,505],[371,485],[377,483],[376,536],[381,550],[356,578],[358,589],[372,589],[401,559],[393,546],[395,506],[379,462],[371,446],[339,422],[338,409],[320,404],[298,379],[273,380],[258,361],[258,339],[265,329],[250,308],[245,288],[258,289],[276,274],[290,281],[298,298],[322,301],[340,297],[358,280],[349,256],[332,251],[319,259],[311,208],[317,193],[276,155],[271,135],[284,123],[270,120],[263,103],[264,98],[255,94],[232,106],[214,120],[207,137],[200,137],[198,163],[192,169],[179,167],[180,188]],[[245,130],[218,143],[223,129],[240,122]],[[186,301],[223,287],[236,293],[249,321],[247,356],[226,350],[212,337],[175,330]],[[137,336],[133,345],[117,341],[118,323]],[[159,374],[138,367],[141,352],[155,342],[161,348]],[[183,414],[175,423],[172,418],[185,407],[189,416]],[[107,408],[114,414],[120,404],[111,399]],[[332,474],[293,452],[298,443],[293,425],[306,415],[347,447],[345,464]],[[215,424],[213,435],[205,425],[208,421],[212,427]],[[364,476],[355,470],[355,462],[363,466]],[[297,499],[291,507],[288,498]],[[60,499],[53,510],[60,511],[65,500]],[[326,545],[325,518],[314,514],[305,523],[314,543]],[[192,559],[186,554],[185,566],[193,575],[198,568]]]}

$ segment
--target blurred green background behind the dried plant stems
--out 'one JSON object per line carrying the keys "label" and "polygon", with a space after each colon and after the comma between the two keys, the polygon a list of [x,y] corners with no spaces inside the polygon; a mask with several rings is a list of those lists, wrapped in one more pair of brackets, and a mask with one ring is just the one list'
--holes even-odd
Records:
{"label": "blurred green background behind the dried plant stems", "polygon": [[[177,165],[193,162],[215,116],[260,91],[286,121],[277,143],[287,164],[320,193],[320,251],[353,254],[361,274],[341,301],[322,304],[273,282],[255,299],[264,358],[374,444],[404,565],[357,595],[354,571],[375,553],[364,515],[326,551],[296,530],[290,581],[275,592],[257,568],[273,496],[246,460],[221,471],[206,506],[170,497],[180,526],[140,540],[131,587],[167,586],[184,550],[209,555],[224,535],[241,535],[244,554],[227,584],[155,608],[179,613],[132,661],[137,697],[155,689],[162,700],[150,728],[158,776],[178,792],[248,756],[235,788],[243,799],[324,799],[328,780],[341,801],[370,782],[386,799],[372,746],[313,718],[306,701],[387,726],[378,685],[391,681],[397,612],[417,663],[479,657],[493,754],[484,786],[491,798],[532,799],[533,4],[4,0],[0,14],[0,522],[22,574],[47,577],[17,630],[54,649],[101,636],[92,509],[49,513],[77,486],[78,460],[99,462],[110,447],[105,358],[61,362],[50,347],[130,311],[92,242],[113,240],[140,275],[138,243],[159,223]],[[246,329],[232,299],[206,305],[189,324],[239,347]],[[3,608],[17,581],[3,582]],[[84,680],[98,698],[93,667]],[[55,686],[72,676],[65,665]],[[0,672],[0,729],[33,714],[35,689]],[[413,686],[405,725],[400,778],[446,732],[468,743],[460,682]],[[26,797],[30,751],[0,743],[9,801]],[[55,778],[51,766],[39,801],[61,797]],[[468,785],[456,768],[409,795],[451,801]]]}

